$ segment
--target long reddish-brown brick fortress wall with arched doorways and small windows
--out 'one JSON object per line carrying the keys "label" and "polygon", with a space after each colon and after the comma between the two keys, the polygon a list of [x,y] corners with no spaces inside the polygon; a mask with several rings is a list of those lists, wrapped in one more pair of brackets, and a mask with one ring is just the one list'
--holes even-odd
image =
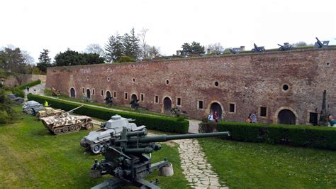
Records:
{"label": "long reddish-brown brick fortress wall with arched doorways and small windows", "polygon": [[[309,112],[321,110],[323,90],[329,112],[336,113],[336,48],[47,68],[46,87],[64,94],[73,87],[77,98],[82,97],[82,88],[89,89],[91,99],[98,102],[107,91],[112,96],[116,92],[113,102],[126,106],[131,95],[140,99],[142,94],[140,106],[155,112],[164,112],[165,97],[173,107],[180,98],[179,108],[196,118],[205,117],[213,102],[230,121],[245,121],[249,113],[258,112],[259,122],[273,123],[281,109],[289,109],[296,124],[308,124]],[[235,104],[235,112],[229,111],[230,104]],[[266,107],[266,117],[260,117],[260,107]]]}

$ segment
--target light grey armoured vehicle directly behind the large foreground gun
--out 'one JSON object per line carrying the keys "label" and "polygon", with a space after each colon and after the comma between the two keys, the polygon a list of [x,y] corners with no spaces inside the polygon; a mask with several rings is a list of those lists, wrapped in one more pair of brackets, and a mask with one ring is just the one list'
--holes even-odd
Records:
{"label": "light grey armoured vehicle directly behind the large foreground gun", "polygon": [[130,121],[135,121],[133,119],[127,119],[116,114],[111,117],[110,120],[101,124],[101,129],[96,131],[91,131],[88,136],[80,141],[80,145],[86,149],[91,150],[92,153],[101,153],[101,149],[104,144],[110,144],[111,138],[116,139],[121,136],[121,131],[125,127],[128,131],[141,131],[145,129],[146,126],[137,126]]}

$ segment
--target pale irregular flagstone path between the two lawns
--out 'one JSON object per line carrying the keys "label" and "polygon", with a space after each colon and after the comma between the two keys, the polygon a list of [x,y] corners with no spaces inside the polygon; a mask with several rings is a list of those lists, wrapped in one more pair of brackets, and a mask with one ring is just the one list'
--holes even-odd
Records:
{"label": "pale irregular flagstone path between the two lawns", "polygon": [[177,140],[181,168],[191,188],[228,188],[220,183],[218,175],[211,170],[205,154],[196,139]]}

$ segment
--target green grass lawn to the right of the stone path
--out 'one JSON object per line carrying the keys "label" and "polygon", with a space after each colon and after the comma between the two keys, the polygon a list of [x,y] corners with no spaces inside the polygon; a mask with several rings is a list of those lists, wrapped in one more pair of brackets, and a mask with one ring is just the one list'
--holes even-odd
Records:
{"label": "green grass lawn to the right of the stone path", "polygon": [[336,188],[336,151],[199,139],[230,188]]}

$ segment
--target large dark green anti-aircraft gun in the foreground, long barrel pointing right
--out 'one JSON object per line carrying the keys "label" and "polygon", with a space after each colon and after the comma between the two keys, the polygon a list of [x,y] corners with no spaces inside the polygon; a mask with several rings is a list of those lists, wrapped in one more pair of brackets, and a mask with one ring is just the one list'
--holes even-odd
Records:
{"label": "large dark green anti-aircraft gun in the foreground, long barrel pointing right", "polygon": [[[178,139],[196,139],[215,136],[230,136],[229,132],[206,133],[206,134],[179,134],[146,136],[147,129],[142,131],[128,131],[123,128],[121,136],[111,139],[110,145],[103,147],[103,159],[95,160],[91,166],[91,178],[99,178],[101,175],[113,175],[113,178],[96,185],[94,188],[118,188],[125,185],[135,185],[140,188],[159,188],[155,183],[145,180],[147,175],[157,169],[169,167],[171,163],[164,159],[152,163],[148,153],[161,149],[156,142],[164,142]],[[169,171],[167,171],[169,172]]]}

